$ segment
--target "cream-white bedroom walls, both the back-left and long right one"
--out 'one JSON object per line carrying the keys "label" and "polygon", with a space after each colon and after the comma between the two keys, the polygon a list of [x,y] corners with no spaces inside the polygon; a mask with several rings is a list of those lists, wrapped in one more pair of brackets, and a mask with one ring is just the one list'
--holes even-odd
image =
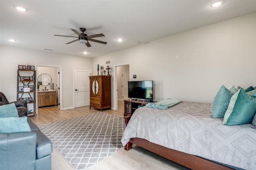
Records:
{"label": "cream-white bedroom walls, both the back-left and long right one", "polygon": [[[130,64],[130,75],[136,74],[136,80],[154,80],[156,101],[211,103],[222,84],[256,86],[255,20],[253,13],[93,59],[1,45],[0,91],[9,101],[16,100],[18,65],[62,66],[63,107],[74,107],[74,68],[92,68],[96,75],[97,64],[104,68]],[[113,108],[114,84],[112,76]]]}

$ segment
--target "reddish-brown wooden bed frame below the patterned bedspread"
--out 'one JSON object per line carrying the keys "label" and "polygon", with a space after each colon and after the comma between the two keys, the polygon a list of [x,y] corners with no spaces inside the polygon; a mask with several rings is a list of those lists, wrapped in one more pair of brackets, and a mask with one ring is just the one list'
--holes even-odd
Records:
{"label": "reddish-brown wooden bed frame below the patterned bedspread", "polygon": [[[130,120],[130,117],[131,115],[124,117],[126,125]],[[180,165],[186,166],[192,170],[232,170],[232,168],[212,162],[210,160],[180,152],[178,150],[169,149],[141,138],[130,139],[130,141],[124,146],[124,149],[127,151],[132,149],[132,144],[149,150]]]}

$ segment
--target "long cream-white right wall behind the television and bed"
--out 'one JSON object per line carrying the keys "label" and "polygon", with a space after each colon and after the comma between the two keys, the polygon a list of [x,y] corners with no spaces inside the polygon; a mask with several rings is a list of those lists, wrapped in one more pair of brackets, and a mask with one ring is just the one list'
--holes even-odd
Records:
{"label": "long cream-white right wall behind the television and bed", "polygon": [[156,101],[211,103],[222,84],[256,86],[255,21],[253,13],[96,57],[93,74],[96,64],[105,61],[112,67],[130,63],[130,75],[136,74],[136,80],[154,80]]}

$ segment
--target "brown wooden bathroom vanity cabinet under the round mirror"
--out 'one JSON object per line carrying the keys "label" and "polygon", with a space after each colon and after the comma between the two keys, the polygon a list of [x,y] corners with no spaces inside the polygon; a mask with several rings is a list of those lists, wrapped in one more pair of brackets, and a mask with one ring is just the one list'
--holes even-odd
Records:
{"label": "brown wooden bathroom vanity cabinet under the round mirror", "polygon": [[56,90],[38,91],[37,100],[38,100],[38,107],[55,106]]}

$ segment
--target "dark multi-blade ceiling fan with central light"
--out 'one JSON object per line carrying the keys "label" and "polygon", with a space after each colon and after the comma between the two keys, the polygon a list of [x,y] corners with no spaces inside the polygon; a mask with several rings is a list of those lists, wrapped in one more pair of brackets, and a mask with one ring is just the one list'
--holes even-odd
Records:
{"label": "dark multi-blade ceiling fan with central light", "polygon": [[[88,41],[93,41],[93,42],[102,43],[102,44],[107,43],[107,42],[100,41],[100,40],[97,40],[97,39],[92,39],[92,38],[96,38],[96,37],[104,37],[105,35],[102,34],[102,33],[95,34],[95,35],[87,35],[87,34],[84,33],[84,31],[86,31],[86,28],[80,28],[80,31],[82,31],[82,33],[79,33],[78,31],[76,31],[76,29],[71,29],[71,30],[74,31],[74,33],[76,33],[78,35],[78,37],[74,37],[74,38],[78,38],[78,39],[70,41],[66,44],[70,44],[70,43],[74,43],[76,41],[79,41],[79,43],[85,43],[85,45],[87,47],[92,47]],[[66,36],[66,35],[55,35],[55,36],[73,37],[73,36]]]}

